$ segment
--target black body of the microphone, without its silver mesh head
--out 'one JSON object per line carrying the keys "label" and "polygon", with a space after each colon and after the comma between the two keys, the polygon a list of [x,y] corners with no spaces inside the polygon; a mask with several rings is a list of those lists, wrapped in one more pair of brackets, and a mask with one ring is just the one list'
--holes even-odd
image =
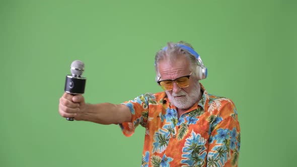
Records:
{"label": "black body of the microphone, without its silver mesh head", "polygon": [[[64,91],[70,95],[82,95],[85,93],[86,77],[76,77],[66,75]],[[74,121],[74,118],[66,118],[68,121]]]}

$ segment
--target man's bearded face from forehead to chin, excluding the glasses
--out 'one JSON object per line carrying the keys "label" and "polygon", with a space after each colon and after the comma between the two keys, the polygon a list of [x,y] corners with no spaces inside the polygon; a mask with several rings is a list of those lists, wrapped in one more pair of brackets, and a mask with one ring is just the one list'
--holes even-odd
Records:
{"label": "man's bearded face from forehead to chin, excluding the glasses", "polygon": [[[158,64],[160,80],[171,79],[174,80],[178,77],[189,75],[190,62],[186,57],[180,57],[174,62],[168,60],[161,60]],[[190,85],[186,88],[179,88],[176,82],[173,82],[173,90],[165,91],[169,101],[179,109],[188,109],[192,107],[199,98],[200,85],[198,80],[190,76]]]}

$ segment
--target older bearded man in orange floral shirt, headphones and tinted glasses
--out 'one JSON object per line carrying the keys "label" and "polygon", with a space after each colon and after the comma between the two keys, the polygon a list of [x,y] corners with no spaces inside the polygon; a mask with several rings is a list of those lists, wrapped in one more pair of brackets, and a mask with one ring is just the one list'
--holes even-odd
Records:
{"label": "older bearded man in orange floral shirt, headphones and tinted glasses", "polygon": [[62,117],[119,124],[131,136],[145,128],[141,166],[238,166],[240,126],[234,103],[210,95],[199,83],[207,68],[192,46],[168,43],[155,57],[164,92],[122,104],[86,104],[81,95],[60,98]]}

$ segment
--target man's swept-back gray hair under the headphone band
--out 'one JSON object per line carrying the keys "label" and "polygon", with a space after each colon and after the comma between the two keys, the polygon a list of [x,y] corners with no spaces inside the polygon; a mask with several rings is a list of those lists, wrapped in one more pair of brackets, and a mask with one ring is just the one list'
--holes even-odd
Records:
{"label": "man's swept-back gray hair under the headphone band", "polygon": [[179,47],[177,44],[186,45],[186,46],[194,49],[189,43],[186,43],[184,41],[180,41],[178,43],[168,42],[167,49],[159,50],[155,56],[155,69],[156,69],[157,77],[160,77],[160,73],[158,70],[158,64],[161,60],[166,59],[166,60],[169,60],[170,62],[174,62],[174,61],[176,61],[177,58],[185,56],[190,61],[190,67],[189,67],[190,71],[193,73],[194,77],[198,78],[198,74],[196,73],[196,71],[197,71],[196,69],[198,67],[196,57],[194,55],[192,55],[191,53],[189,53],[187,50],[184,50],[181,47]]}

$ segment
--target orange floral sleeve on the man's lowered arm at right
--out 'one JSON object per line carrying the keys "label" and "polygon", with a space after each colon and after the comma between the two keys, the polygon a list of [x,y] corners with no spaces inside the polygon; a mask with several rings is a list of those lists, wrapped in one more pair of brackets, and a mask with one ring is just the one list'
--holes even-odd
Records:
{"label": "orange floral sleeve on the man's lowered arm at right", "polygon": [[240,126],[232,101],[222,106],[220,115],[224,117],[211,125],[206,166],[238,166]]}

